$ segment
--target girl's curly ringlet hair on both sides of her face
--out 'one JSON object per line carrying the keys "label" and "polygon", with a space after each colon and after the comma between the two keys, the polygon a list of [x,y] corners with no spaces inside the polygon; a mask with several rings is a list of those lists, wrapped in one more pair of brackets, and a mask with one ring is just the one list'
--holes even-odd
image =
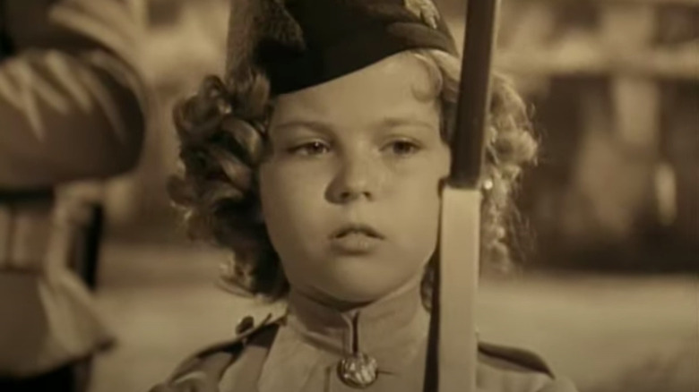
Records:
{"label": "girl's curly ringlet hair on both sides of her face", "polygon": [[[439,91],[442,137],[449,140],[459,94],[460,61],[437,50],[413,50],[427,66]],[[481,215],[481,266],[513,266],[507,245],[513,232],[513,190],[522,166],[531,163],[537,142],[522,98],[500,74],[492,81],[487,120]],[[193,97],[174,110],[182,170],[169,182],[175,205],[184,211],[189,234],[232,251],[222,281],[237,294],[275,300],[289,284],[266,232],[259,198],[257,168],[267,151],[266,130],[274,98],[270,82],[254,67],[235,80],[204,79]],[[423,302],[431,301],[435,260],[423,278]]]}

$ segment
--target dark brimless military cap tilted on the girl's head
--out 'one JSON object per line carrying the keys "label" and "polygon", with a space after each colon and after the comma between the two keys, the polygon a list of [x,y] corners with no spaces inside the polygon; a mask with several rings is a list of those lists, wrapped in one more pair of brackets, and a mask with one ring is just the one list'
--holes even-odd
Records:
{"label": "dark brimless military cap tilted on the girl's head", "polygon": [[432,0],[232,0],[227,80],[263,71],[272,94],[331,81],[399,52],[457,54]]}

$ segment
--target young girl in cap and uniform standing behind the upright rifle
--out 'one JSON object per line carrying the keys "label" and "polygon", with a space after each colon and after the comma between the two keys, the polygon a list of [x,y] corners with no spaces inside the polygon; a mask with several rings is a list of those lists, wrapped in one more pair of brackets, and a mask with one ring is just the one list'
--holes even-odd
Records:
{"label": "young girl in cap and uniform standing behind the upright rifle", "polygon": [[[224,80],[176,110],[195,234],[235,253],[229,285],[287,303],[153,391],[418,392],[440,187],[460,60],[428,0],[236,1]],[[495,77],[484,267],[506,268],[505,212],[536,143]],[[573,391],[533,354],[481,345],[492,392]],[[427,384],[428,385],[428,384]]]}

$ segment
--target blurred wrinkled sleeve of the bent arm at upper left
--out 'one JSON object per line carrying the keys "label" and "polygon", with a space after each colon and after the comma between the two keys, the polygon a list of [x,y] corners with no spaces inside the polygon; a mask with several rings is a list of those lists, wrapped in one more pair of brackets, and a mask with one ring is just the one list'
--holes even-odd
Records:
{"label": "blurred wrinkled sleeve of the bent arm at upper left", "polygon": [[132,168],[148,99],[129,0],[5,0],[0,188],[99,179]]}

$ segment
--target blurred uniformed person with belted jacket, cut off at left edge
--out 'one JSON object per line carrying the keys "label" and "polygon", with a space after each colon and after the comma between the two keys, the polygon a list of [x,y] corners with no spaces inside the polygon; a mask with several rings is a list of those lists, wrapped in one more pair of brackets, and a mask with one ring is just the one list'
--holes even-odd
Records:
{"label": "blurred uniformed person with belted jacket, cut off at left edge", "polygon": [[145,91],[135,66],[134,11],[129,0],[0,1],[5,392],[84,390],[91,356],[113,342],[70,270],[85,269],[87,249],[92,272],[84,278],[94,285],[96,253],[84,245],[96,238],[84,234],[99,211],[91,204],[99,205],[99,191],[85,198],[58,190],[122,174],[138,161]]}

